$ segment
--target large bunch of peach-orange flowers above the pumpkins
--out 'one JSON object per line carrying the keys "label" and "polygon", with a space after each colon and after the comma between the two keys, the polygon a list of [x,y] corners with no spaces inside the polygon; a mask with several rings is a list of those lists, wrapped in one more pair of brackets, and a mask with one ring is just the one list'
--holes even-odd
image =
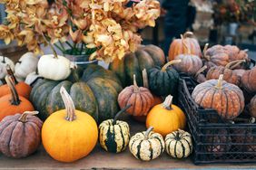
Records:
{"label": "large bunch of peach-orange flowers above the pumpkins", "polygon": [[0,0],[7,17],[0,39],[14,40],[29,51],[41,52],[46,41],[71,54],[90,52],[90,60],[111,62],[134,52],[142,38],[136,32],[154,26],[160,15],[157,0]]}

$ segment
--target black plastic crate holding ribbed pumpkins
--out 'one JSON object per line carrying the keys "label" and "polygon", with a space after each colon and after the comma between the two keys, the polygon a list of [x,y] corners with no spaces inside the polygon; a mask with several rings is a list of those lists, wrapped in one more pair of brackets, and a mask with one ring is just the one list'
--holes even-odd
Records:
{"label": "black plastic crate holding ribbed pumpkins", "polygon": [[192,99],[198,83],[181,75],[179,106],[186,114],[193,139],[194,164],[256,163],[256,124],[241,113],[234,121],[223,120],[214,109],[202,109]]}

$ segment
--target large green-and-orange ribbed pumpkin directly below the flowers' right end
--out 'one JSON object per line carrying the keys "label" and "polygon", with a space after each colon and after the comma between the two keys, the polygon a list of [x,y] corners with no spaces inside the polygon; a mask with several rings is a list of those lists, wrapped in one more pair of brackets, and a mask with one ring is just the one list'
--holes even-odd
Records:
{"label": "large green-and-orange ribbed pumpkin directly below the flowers' right end", "polygon": [[109,69],[114,71],[123,83],[123,87],[133,85],[133,74],[136,75],[138,85],[143,86],[143,69],[147,71],[155,66],[165,63],[162,49],[155,45],[146,45],[138,48],[136,52],[126,54],[122,60],[116,59]]}

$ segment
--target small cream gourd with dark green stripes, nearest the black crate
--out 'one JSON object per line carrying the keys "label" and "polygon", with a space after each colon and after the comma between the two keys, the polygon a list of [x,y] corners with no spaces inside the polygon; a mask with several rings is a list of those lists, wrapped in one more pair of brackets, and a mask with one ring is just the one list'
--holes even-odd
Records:
{"label": "small cream gourd with dark green stripes, nearest the black crate", "polygon": [[190,133],[178,129],[165,137],[167,154],[173,158],[184,158],[192,154],[192,136]]}

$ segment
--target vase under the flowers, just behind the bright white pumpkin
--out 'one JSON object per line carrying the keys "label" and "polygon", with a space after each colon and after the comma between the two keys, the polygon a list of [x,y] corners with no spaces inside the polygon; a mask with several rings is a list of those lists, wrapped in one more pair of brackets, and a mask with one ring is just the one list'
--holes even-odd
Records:
{"label": "vase under the flowers, just behind the bright white pumpkin", "polygon": [[72,54],[64,54],[64,56],[72,61],[77,66],[80,66],[81,68],[86,68],[88,64],[98,64],[97,60],[89,61],[89,55],[72,55]]}

